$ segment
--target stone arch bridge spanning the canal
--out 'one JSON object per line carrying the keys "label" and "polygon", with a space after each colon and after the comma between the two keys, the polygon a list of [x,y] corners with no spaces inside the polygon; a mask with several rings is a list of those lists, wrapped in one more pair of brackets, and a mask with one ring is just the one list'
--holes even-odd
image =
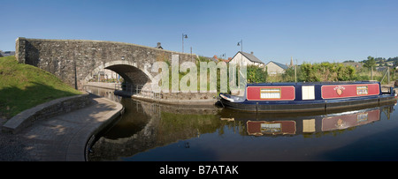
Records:
{"label": "stone arch bridge spanning the canal", "polygon": [[66,84],[82,89],[90,78],[103,69],[117,72],[134,86],[150,87],[151,66],[157,61],[179,55],[180,63],[195,62],[196,55],[115,41],[44,40],[19,37],[15,56],[55,74]]}

